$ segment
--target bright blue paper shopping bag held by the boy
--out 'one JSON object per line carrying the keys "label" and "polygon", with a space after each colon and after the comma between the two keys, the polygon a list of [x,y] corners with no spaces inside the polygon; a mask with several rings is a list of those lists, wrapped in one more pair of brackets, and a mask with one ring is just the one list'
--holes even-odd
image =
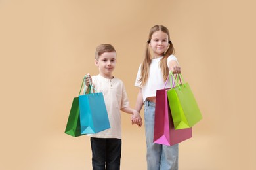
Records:
{"label": "bright blue paper shopping bag held by the boy", "polygon": [[89,90],[89,94],[79,96],[82,134],[95,134],[110,128],[103,93],[93,92],[95,88],[91,82],[90,87],[91,90]]}

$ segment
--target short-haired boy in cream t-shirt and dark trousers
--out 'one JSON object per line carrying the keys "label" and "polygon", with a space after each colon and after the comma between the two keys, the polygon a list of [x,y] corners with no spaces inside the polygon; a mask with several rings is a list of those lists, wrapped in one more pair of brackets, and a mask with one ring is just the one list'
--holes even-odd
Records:
{"label": "short-haired boy in cream t-shirt and dark trousers", "polygon": [[139,112],[129,107],[123,82],[112,75],[116,67],[116,50],[112,45],[101,44],[96,48],[95,65],[98,67],[99,74],[87,76],[86,85],[89,86],[90,78],[94,88],[103,93],[110,129],[89,135],[93,152],[93,169],[118,170],[121,160],[120,110],[133,114],[132,124],[138,124],[139,127],[142,125],[142,119]]}

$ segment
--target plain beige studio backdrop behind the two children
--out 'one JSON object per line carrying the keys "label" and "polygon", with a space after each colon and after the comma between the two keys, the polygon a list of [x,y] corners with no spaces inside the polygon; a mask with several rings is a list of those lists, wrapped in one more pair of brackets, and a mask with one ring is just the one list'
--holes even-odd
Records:
{"label": "plain beige studio backdrop behind the two children", "polygon": [[[255,15],[253,0],[0,0],[0,169],[91,169],[89,137],[64,134],[72,99],[98,73],[96,46],[110,43],[134,106],[156,24],[169,28],[203,114],[179,145],[180,169],[256,169]],[[129,118],[121,169],[146,169],[144,127]]]}

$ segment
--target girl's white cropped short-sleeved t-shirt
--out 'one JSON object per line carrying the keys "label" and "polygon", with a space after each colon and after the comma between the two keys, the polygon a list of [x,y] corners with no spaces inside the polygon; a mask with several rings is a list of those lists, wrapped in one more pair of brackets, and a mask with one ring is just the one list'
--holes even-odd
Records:
{"label": "girl's white cropped short-sleeved t-shirt", "polygon": [[[171,87],[170,81],[167,82],[166,86],[165,86],[165,82],[163,81],[163,73],[161,72],[161,68],[159,65],[160,60],[162,58],[163,57],[151,60],[148,81],[146,82],[146,84],[144,84],[144,86],[140,86],[140,82],[139,82],[140,75],[141,75],[141,69],[140,69],[141,64],[140,64],[136,81],[135,81],[135,86],[142,88],[143,102],[146,100],[147,97],[156,97],[156,90]],[[170,55],[167,58],[167,63],[169,63],[169,61],[171,60],[177,61],[177,58],[174,55]]]}

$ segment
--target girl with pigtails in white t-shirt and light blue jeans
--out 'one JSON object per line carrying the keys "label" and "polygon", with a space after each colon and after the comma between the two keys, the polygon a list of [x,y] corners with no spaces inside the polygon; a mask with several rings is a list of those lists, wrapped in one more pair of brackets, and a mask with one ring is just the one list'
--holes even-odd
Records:
{"label": "girl with pigtails in white t-shirt and light blue jeans", "polygon": [[[152,49],[153,56],[150,54]],[[156,90],[163,89],[169,71],[181,73],[169,31],[163,25],[150,29],[145,58],[139,67],[135,86],[139,87],[135,109],[140,112],[144,103],[144,118],[148,170],[178,169],[178,144],[165,146],[153,143]],[[170,87],[170,83],[166,88]]]}

